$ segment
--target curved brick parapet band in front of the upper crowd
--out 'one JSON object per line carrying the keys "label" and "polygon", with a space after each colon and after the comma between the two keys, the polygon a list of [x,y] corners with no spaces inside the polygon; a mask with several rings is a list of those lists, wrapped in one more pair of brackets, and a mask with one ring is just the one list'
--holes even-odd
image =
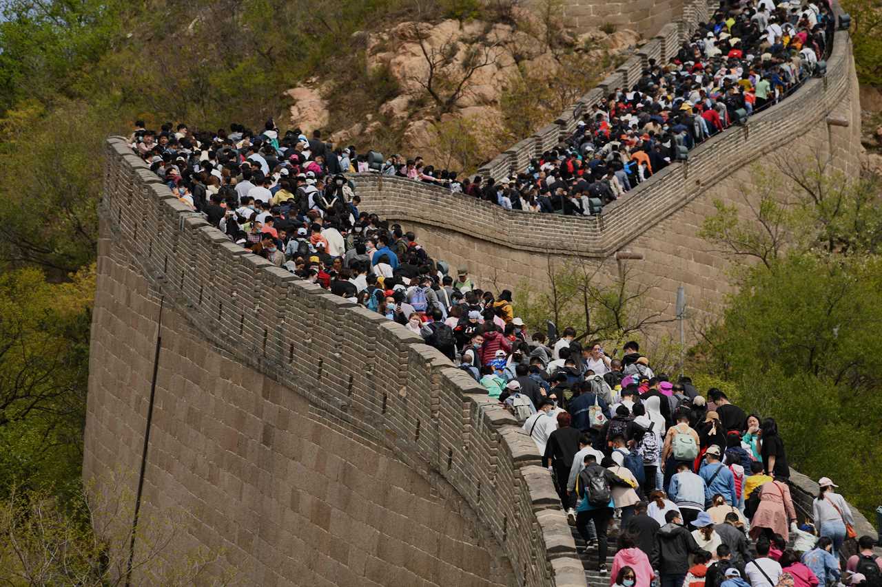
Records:
{"label": "curved brick parapet band in front of the upper crowd", "polygon": [[[667,47],[661,43],[661,48]],[[661,50],[661,49],[660,49]],[[812,78],[748,123],[709,138],[595,217],[506,211],[496,204],[395,177],[354,175],[363,207],[390,219],[427,223],[513,249],[605,257],[767,152],[823,122],[848,95],[851,41],[838,31],[825,78]]]}

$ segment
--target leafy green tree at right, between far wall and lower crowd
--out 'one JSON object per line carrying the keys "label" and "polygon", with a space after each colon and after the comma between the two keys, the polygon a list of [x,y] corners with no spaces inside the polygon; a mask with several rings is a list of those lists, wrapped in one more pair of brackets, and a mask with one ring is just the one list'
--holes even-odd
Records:
{"label": "leafy green tree at right, between far wall and lower crowd", "polygon": [[759,178],[742,213],[717,203],[704,223],[707,240],[758,262],[740,265],[739,291],[695,350],[699,368],[777,420],[794,467],[837,479],[869,510],[882,484],[878,191],[817,161],[779,162]]}

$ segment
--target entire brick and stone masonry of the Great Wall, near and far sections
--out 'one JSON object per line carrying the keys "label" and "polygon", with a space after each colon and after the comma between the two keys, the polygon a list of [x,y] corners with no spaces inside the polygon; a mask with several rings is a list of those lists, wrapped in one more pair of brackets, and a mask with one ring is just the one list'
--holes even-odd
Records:
{"label": "entire brick and stone masonry of the Great Wall, near and far sections", "polygon": [[[701,12],[684,15],[635,57],[665,56]],[[477,276],[494,264],[515,286],[542,277],[547,252],[637,250],[641,273],[661,279],[659,308],[682,282],[713,311],[728,291],[727,262],[695,231],[714,197],[736,201],[746,166],[789,137],[856,169],[847,33],[827,67],[602,219],[537,218],[415,182],[355,181],[367,209],[415,227]],[[545,130],[519,143],[492,173],[509,173],[574,121],[559,121],[553,141]],[[587,584],[534,443],[467,375],[400,325],[235,246],[122,138],[108,140],[104,176],[84,458],[96,490],[102,472],[138,471],[150,412],[142,508],[187,512],[180,543],[222,549],[213,572],[235,567],[260,585]],[[794,487],[811,509],[817,486],[795,475]],[[871,526],[861,518],[858,531]]]}

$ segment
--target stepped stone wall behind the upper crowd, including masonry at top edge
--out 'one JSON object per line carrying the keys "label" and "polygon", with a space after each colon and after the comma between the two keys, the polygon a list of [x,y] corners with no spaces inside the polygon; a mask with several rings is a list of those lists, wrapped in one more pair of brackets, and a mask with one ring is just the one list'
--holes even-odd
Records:
{"label": "stepped stone wall behind the upper crowd, including masonry at top edge", "polygon": [[[719,3],[714,0],[638,0],[637,2],[603,3],[587,0],[576,0],[564,4],[566,21],[576,28],[588,26],[601,26],[602,18],[593,16],[595,13],[606,14],[613,12],[617,19],[622,20],[624,25],[635,15],[642,15],[646,11],[646,5],[651,9],[647,16],[639,19],[638,30],[649,40],[634,52],[627,61],[622,63],[616,71],[613,71],[603,79],[596,87],[576,100],[567,107],[554,123],[548,124],[542,129],[513,145],[505,152],[478,169],[482,177],[493,177],[501,180],[512,174],[517,174],[527,167],[529,160],[539,157],[542,152],[557,146],[564,138],[572,135],[576,130],[576,123],[582,115],[590,111],[594,104],[616,90],[616,88],[631,87],[634,85],[640,73],[647,68],[649,60],[654,59],[657,63],[668,63],[671,56],[676,55],[680,43],[689,37],[699,22],[706,22],[714,13]],[[612,21],[609,21],[612,22]],[[620,24],[616,22],[615,24]],[[635,28],[633,24],[628,26]],[[651,32],[650,32],[651,31]]]}

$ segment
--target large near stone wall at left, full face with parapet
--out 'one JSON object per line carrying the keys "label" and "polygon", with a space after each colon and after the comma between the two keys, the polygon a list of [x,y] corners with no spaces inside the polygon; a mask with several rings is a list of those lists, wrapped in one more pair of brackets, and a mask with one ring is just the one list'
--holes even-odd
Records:
{"label": "large near stone wall at left, full face with parapet", "polygon": [[95,491],[138,472],[159,335],[142,511],[186,512],[172,550],[244,584],[586,584],[534,443],[466,374],[235,246],[122,138],[104,173]]}

